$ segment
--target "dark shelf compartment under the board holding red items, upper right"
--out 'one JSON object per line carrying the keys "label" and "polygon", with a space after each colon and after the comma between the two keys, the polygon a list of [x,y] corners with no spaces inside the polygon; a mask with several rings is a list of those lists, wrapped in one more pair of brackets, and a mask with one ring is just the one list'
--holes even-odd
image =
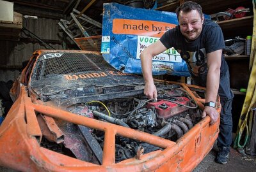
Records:
{"label": "dark shelf compartment under the board holding red items, upper right", "polygon": [[252,35],[253,15],[243,17],[243,18],[223,20],[223,21],[217,22],[217,24],[220,25],[223,31],[223,34],[225,34],[225,37],[239,36],[239,34]]}

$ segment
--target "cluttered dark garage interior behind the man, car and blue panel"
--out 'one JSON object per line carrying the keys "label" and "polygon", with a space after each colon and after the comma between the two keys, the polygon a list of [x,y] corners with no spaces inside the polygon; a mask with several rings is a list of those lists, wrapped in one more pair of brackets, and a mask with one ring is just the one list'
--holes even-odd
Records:
{"label": "cluttered dark garage interior behind the man, car and blue panel", "polygon": [[[225,55],[225,60],[230,70],[230,88],[235,95],[232,103],[233,142],[240,136],[241,144],[232,143],[234,148],[226,165],[214,162],[215,145],[194,171],[255,171],[256,102],[255,95],[248,94],[247,91],[255,89],[253,69],[256,68],[254,61],[256,2],[254,0],[196,0],[195,2],[202,6],[205,14],[220,25],[227,43],[226,47],[230,50]],[[104,3],[175,12],[184,0],[0,0],[0,104],[2,105],[0,125],[13,105],[9,95],[13,82],[26,67],[33,52],[36,50],[100,52]],[[155,78],[188,82],[187,76],[159,75]],[[242,142],[246,144],[243,145]],[[3,166],[0,167],[0,171],[14,170]]]}

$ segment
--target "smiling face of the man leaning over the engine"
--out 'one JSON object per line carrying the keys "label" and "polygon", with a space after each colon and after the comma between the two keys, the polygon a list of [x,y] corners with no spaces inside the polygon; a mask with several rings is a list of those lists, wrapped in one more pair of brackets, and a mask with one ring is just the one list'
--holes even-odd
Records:
{"label": "smiling face of the man leaning over the engine", "polygon": [[204,16],[201,18],[200,14],[196,10],[191,10],[188,13],[180,11],[179,13],[179,25],[180,31],[186,39],[193,41],[202,32],[204,23]]}

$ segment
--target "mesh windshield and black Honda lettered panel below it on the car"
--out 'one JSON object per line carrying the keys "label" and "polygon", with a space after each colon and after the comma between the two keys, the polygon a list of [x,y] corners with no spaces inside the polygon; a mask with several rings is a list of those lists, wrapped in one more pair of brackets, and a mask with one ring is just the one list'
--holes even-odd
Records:
{"label": "mesh windshield and black Honda lettered panel below it on the car", "polygon": [[[125,74],[116,70],[97,53],[56,52],[41,54],[31,75],[31,88],[38,95],[63,95],[64,97],[124,91],[123,86],[143,85],[141,76]],[[122,87],[118,89],[119,87]],[[83,91],[82,91],[83,92]],[[60,97],[60,96],[59,96]]]}

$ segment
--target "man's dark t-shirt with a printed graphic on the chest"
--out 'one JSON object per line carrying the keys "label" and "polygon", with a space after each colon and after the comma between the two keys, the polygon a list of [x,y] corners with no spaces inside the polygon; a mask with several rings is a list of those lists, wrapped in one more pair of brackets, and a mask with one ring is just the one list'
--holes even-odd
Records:
{"label": "man's dark t-shirt with a printed graphic on the chest", "polygon": [[[205,19],[203,29],[193,41],[186,41],[180,32],[179,25],[166,31],[160,38],[164,47],[174,47],[184,61],[186,61],[193,80],[203,87],[206,87],[207,78],[207,56],[206,54],[225,48],[225,42],[221,28],[211,20]],[[222,54],[220,77],[228,71],[227,62]]]}

